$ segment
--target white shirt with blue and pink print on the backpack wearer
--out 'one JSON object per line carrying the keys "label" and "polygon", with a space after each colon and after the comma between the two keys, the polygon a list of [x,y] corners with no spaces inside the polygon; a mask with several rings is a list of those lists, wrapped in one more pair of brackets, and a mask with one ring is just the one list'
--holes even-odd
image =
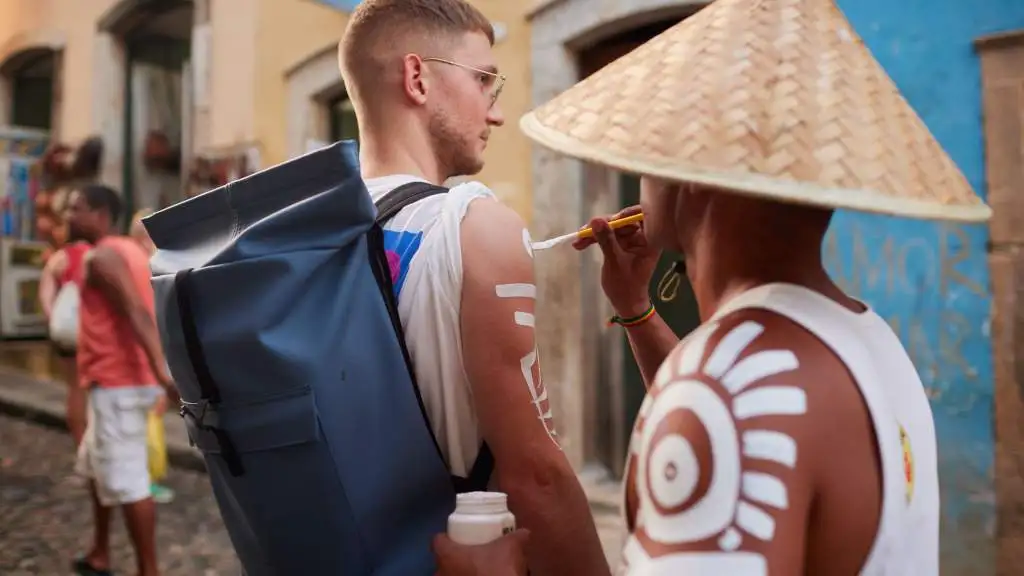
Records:
{"label": "white shirt with blue and pink print on the backpack wearer", "polygon": [[[376,202],[416,181],[425,180],[396,174],[366,184]],[[494,197],[485,186],[462,183],[407,206],[384,225],[398,316],[427,419],[449,468],[460,477],[469,474],[482,443],[462,363],[460,228],[469,204],[485,197]]]}

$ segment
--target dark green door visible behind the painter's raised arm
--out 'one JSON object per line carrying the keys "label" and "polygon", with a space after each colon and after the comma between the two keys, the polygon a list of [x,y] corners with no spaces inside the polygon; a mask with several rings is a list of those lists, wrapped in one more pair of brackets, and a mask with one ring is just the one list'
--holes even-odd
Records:
{"label": "dark green door visible behind the painter's raised arm", "polygon": [[[638,177],[632,174],[621,174],[618,177],[618,190],[624,208],[640,202],[640,179]],[[689,280],[685,276],[679,276],[678,279],[670,282],[672,277],[666,276],[672,270],[673,265],[679,261],[680,257],[679,254],[670,251],[662,254],[662,259],[658,261],[657,269],[655,269],[654,276],[650,281],[650,298],[657,307],[658,315],[665,319],[676,334],[684,336],[699,326],[700,316],[697,312],[697,302],[693,297],[693,290],[690,287]],[[640,403],[643,402],[646,389],[643,384],[643,378],[640,375],[640,368],[633,359],[633,352],[630,349],[630,343],[626,339],[625,333],[623,334],[622,345],[625,346],[625,357],[622,379],[624,387],[622,394],[623,413],[621,417],[625,424],[622,426],[622,429],[626,433],[626,438],[622,446],[625,446],[626,450],[629,450],[629,438],[633,431],[633,421],[640,410]],[[620,465],[614,466],[612,469],[618,470],[625,465],[625,450],[620,455]]]}

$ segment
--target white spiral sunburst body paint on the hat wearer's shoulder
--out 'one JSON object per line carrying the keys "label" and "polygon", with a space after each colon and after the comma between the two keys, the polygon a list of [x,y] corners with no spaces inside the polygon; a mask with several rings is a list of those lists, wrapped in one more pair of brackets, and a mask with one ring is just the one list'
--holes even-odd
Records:
{"label": "white spiral sunburst body paint on the hat wearer's shoulder", "polygon": [[[774,378],[799,368],[792,351],[758,352],[740,360],[764,332],[757,322],[729,330],[706,360],[718,329],[703,326],[686,338],[658,370],[641,406],[630,450],[638,464],[630,483],[637,498],[636,532],[624,550],[631,576],[768,574],[763,554],[740,547],[744,538],[774,538],[773,512],[788,508],[790,494],[782,480],[750,465],[762,461],[793,468],[798,447],[788,435],[765,429],[756,419],[805,414],[807,396]],[[773,383],[764,384],[766,378]],[[707,379],[718,381],[725,396],[703,383]],[[680,417],[680,410],[688,411],[682,417],[692,418],[707,436],[712,459],[702,464],[711,469],[700,470],[690,440],[665,425],[670,417]],[[701,474],[711,482],[694,498]],[[653,553],[640,533],[659,544]],[[715,538],[719,551],[672,549],[708,538]]]}

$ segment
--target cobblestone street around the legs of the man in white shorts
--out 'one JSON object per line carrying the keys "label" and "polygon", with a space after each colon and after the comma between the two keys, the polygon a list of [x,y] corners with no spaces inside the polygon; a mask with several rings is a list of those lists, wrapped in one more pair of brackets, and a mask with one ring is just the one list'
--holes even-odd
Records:
{"label": "cobblestone street around the legs of the man in white shorts", "polygon": [[[70,574],[71,560],[88,549],[88,491],[73,475],[73,458],[67,434],[0,415],[0,574]],[[162,573],[239,574],[206,476],[171,468],[165,484],[177,497],[159,506]],[[114,522],[111,560],[116,574],[135,573],[120,515]]]}

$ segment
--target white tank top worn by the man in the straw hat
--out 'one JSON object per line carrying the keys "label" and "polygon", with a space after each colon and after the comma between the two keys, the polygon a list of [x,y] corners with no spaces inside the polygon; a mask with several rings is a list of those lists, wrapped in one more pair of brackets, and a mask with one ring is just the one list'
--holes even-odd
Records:
{"label": "white tank top worn by the man in the straw hat", "polygon": [[[870,310],[856,314],[806,288],[771,284],[727,302],[687,340],[702,330],[714,329],[716,320],[742,308],[774,312],[817,336],[850,370],[865,400],[879,441],[883,503],[874,543],[860,573],[938,576],[935,424],[918,371],[892,329]],[[647,564],[646,560],[643,549],[630,538],[624,561],[631,568],[640,568]],[[642,573],[640,568],[637,574]]]}

